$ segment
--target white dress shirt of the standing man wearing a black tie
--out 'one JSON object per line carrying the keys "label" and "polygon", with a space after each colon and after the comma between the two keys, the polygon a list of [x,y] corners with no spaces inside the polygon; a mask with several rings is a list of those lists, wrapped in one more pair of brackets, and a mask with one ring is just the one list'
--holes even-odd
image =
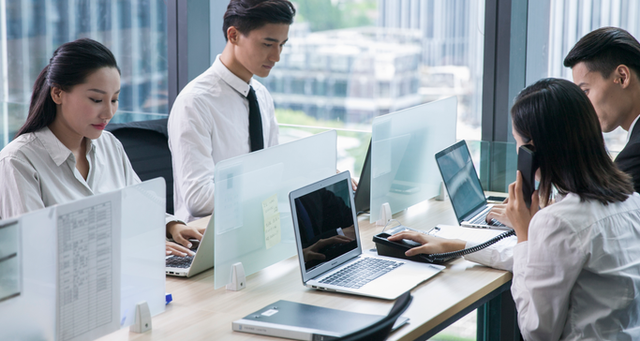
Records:
{"label": "white dress shirt of the standing man wearing a black tie", "polygon": [[[264,146],[278,144],[273,99],[255,79]],[[251,152],[249,84],[216,61],[176,98],[169,115],[169,148],[173,159],[175,214],[185,221],[213,212],[217,162]]]}

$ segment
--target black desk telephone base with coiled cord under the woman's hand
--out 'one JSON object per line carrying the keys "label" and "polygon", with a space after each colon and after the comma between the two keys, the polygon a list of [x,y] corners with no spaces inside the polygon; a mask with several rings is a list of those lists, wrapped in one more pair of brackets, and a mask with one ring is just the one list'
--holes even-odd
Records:
{"label": "black desk telephone base with coiled cord under the woman's hand", "polygon": [[403,239],[401,242],[392,242],[387,239],[398,232],[407,231],[407,230],[427,234],[427,232],[425,231],[411,229],[402,225],[396,226],[388,231],[383,231],[381,233],[378,233],[377,235],[373,236],[373,242],[376,243],[376,249],[378,250],[378,254],[381,256],[404,258],[404,259],[409,259],[409,260],[423,262],[423,263],[442,264],[453,258],[457,258],[460,256],[468,255],[473,252],[480,251],[484,248],[489,247],[490,245],[493,245],[499,242],[504,238],[515,235],[515,231],[510,230],[494,238],[491,238],[482,244],[476,245],[474,247],[470,247],[468,249],[445,252],[445,253],[433,253],[430,255],[420,254],[420,255],[408,257],[404,254],[407,250],[420,246],[422,244],[409,239]]}

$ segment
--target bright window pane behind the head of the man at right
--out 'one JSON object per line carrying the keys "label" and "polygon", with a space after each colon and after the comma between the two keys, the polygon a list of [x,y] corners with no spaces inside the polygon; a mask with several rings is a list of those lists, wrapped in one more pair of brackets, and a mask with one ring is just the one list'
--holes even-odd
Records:
{"label": "bright window pane behind the head of the man at right", "polygon": [[[564,58],[580,38],[597,28],[620,27],[640,38],[640,2],[636,0],[542,0],[529,4],[530,20],[542,22],[546,27],[537,30],[530,27],[529,35],[534,38],[530,40],[537,41],[538,46],[527,49],[542,50],[543,58],[534,62],[543,65],[533,66],[539,72],[527,79],[528,84],[543,77],[572,80],[571,69],[563,65]],[[626,144],[627,132],[618,128],[604,135],[607,148],[613,156],[617,155]]]}

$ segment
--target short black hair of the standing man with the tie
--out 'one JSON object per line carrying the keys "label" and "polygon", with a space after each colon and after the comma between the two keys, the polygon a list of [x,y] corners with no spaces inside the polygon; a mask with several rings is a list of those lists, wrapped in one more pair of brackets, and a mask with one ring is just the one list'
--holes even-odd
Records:
{"label": "short black hair of the standing man with the tie", "polygon": [[222,33],[227,38],[227,29],[233,26],[243,35],[266,24],[293,23],[296,9],[287,0],[231,0],[224,13]]}

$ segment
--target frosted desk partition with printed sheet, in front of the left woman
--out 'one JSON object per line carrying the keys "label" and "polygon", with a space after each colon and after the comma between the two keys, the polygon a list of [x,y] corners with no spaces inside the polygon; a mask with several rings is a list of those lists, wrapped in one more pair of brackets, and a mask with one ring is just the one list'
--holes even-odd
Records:
{"label": "frosted desk partition with printed sheet, in front of the left woman", "polygon": [[164,188],[154,179],[0,221],[17,227],[20,276],[0,301],[0,340],[93,340],[131,325],[137,303],[164,311]]}

